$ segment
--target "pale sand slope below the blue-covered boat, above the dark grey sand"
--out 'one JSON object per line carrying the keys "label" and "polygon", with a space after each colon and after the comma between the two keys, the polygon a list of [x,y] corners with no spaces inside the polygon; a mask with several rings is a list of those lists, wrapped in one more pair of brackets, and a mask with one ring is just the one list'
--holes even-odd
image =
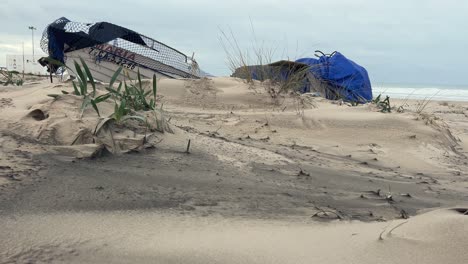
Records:
{"label": "pale sand slope below the blue-covered boat, above the dark grey sand", "polygon": [[[331,167],[342,167],[342,157],[348,157],[347,167],[361,163],[406,175],[440,175],[461,173],[466,159],[457,139],[463,135],[453,136],[444,120],[429,122],[411,111],[384,114],[373,104],[351,106],[311,95],[285,95],[278,102],[259,83],[227,77],[161,80],[158,87],[178,126],[242,144],[247,139],[263,147],[311,149],[338,158],[323,162]],[[367,173],[368,167],[358,169]]]}

